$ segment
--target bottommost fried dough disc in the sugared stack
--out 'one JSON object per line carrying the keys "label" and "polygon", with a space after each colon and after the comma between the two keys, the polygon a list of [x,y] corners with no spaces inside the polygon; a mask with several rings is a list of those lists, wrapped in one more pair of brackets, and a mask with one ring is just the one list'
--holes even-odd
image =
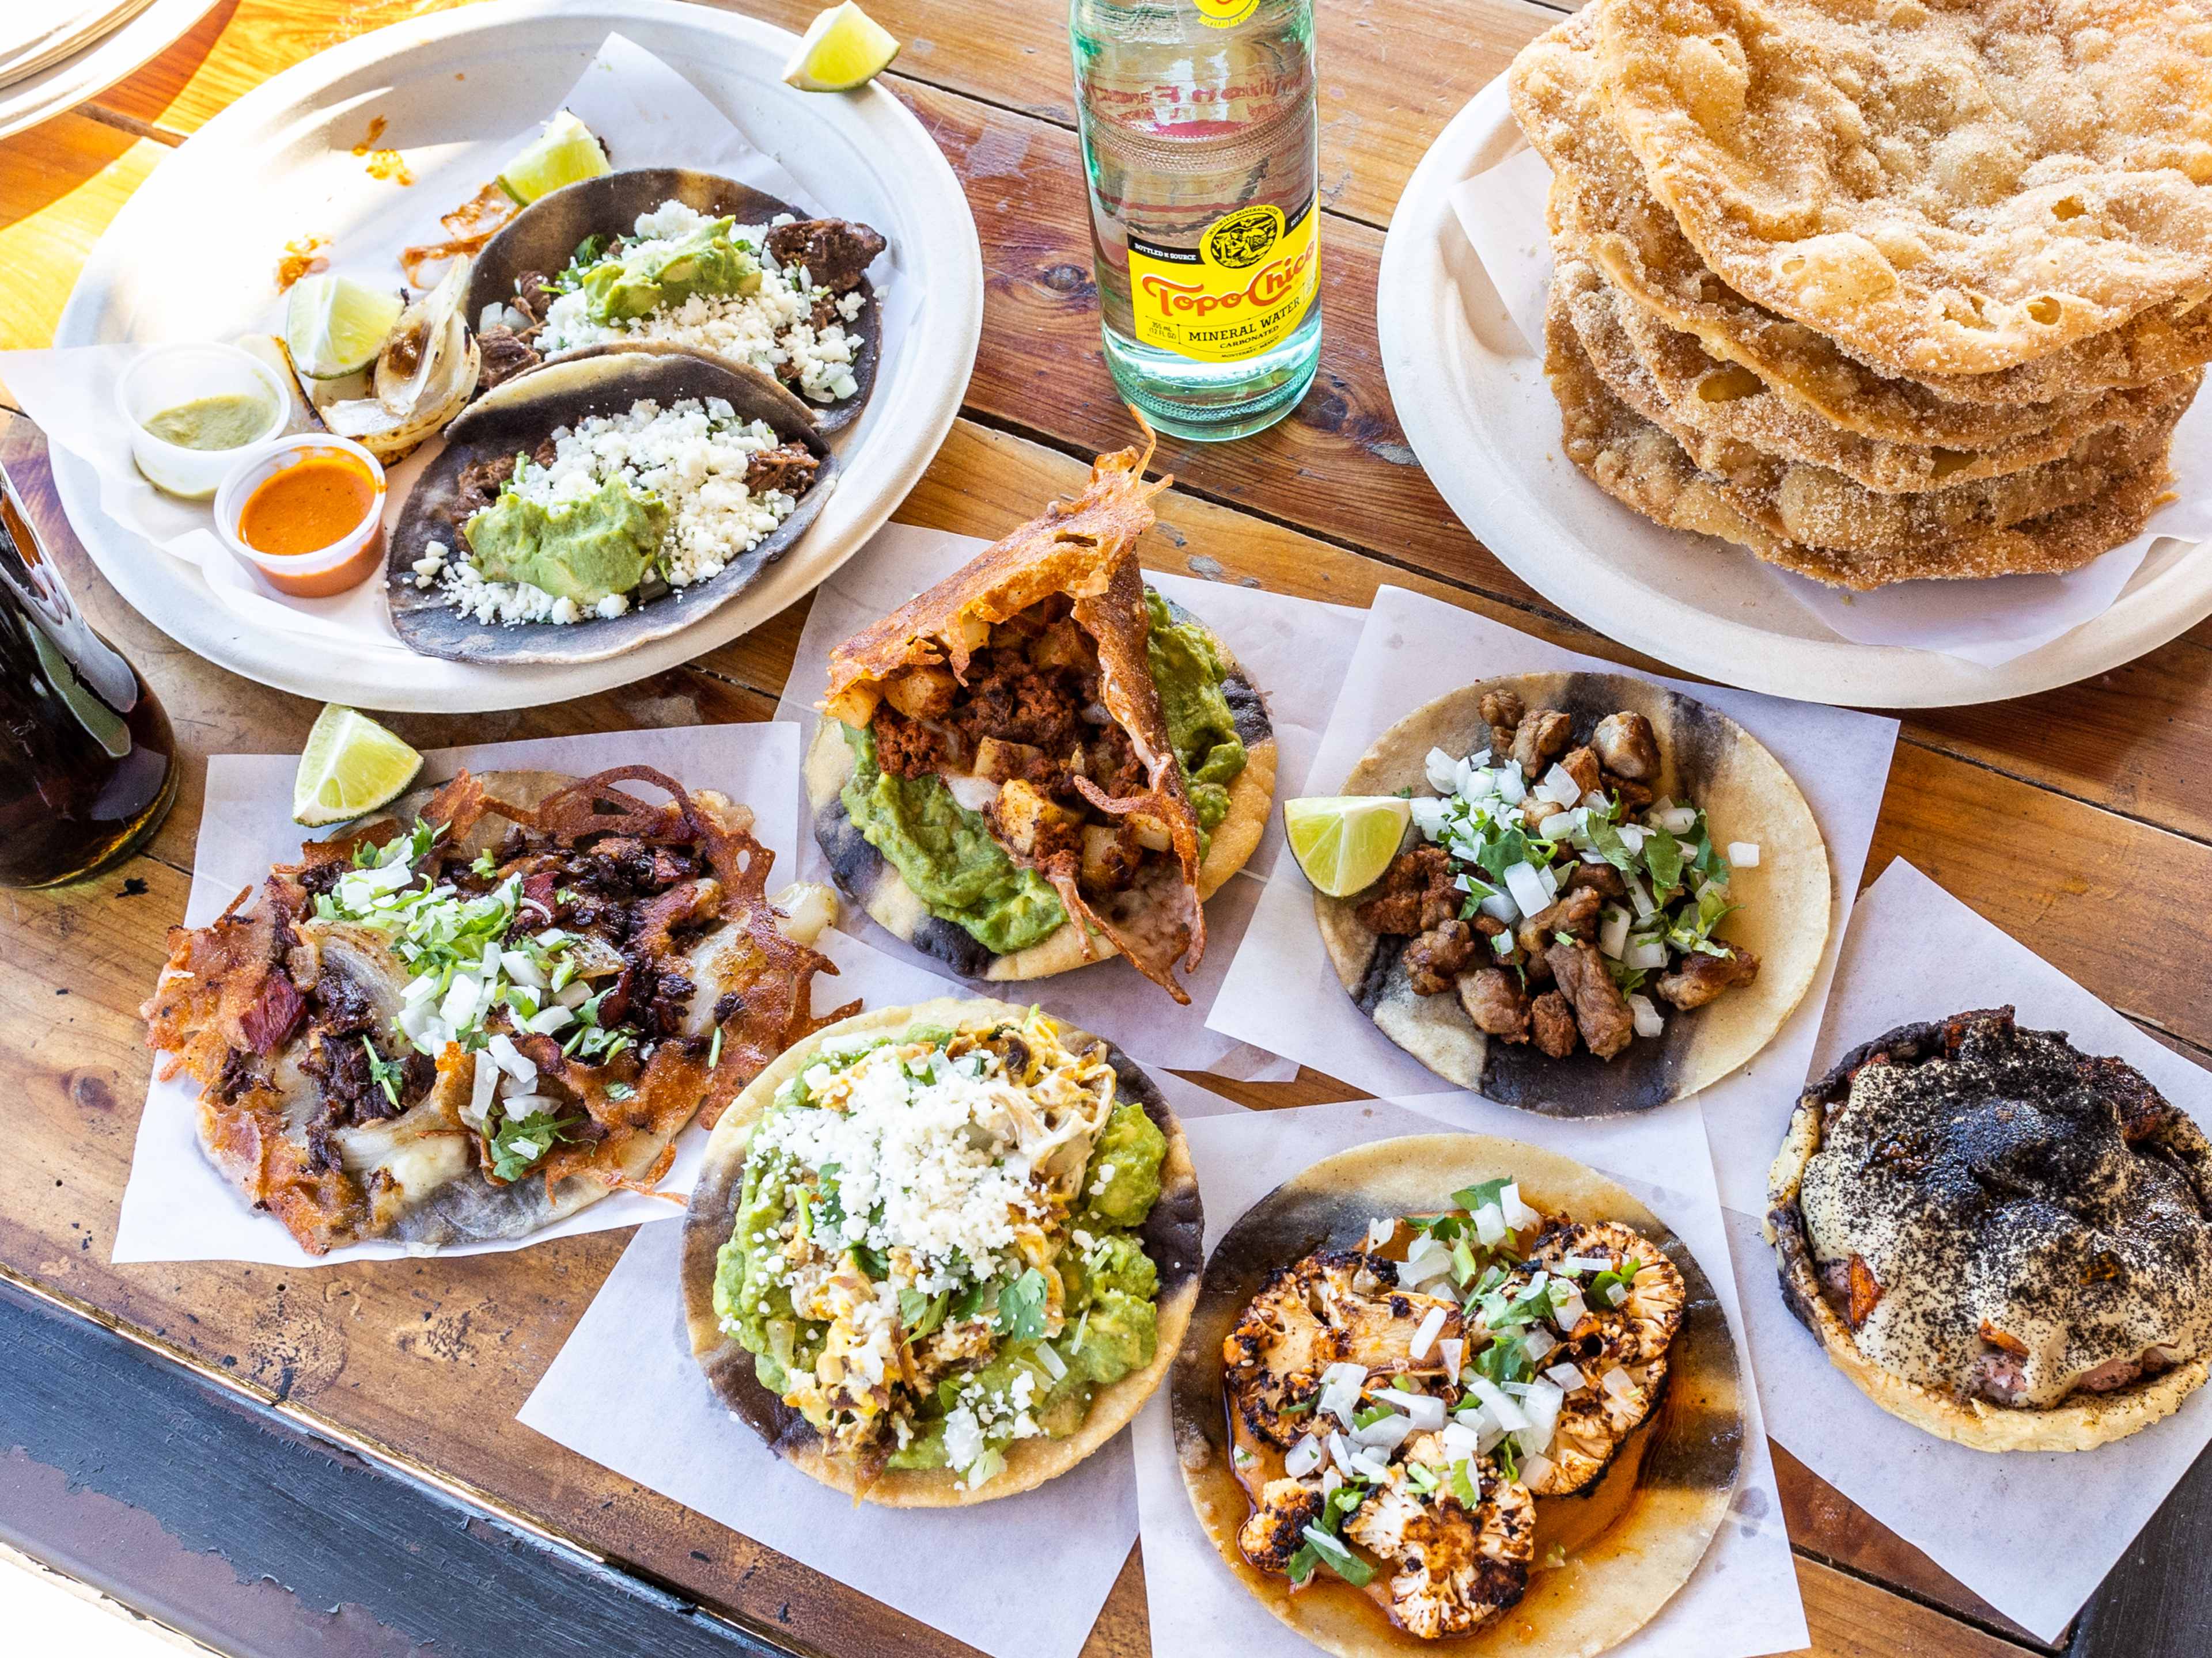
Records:
{"label": "bottommost fried dough disc in the sugared stack", "polygon": [[2161,449],[2086,502],[2011,528],[1929,539],[1902,553],[1805,546],[1752,517],[1739,504],[1741,491],[1701,473],[1679,442],[1613,396],[1562,307],[1553,307],[1548,323],[1544,374],[1559,398],[1562,442],[1590,482],[1668,528],[1719,535],[1829,586],[1867,590],[1891,581],[2079,570],[2137,537],[2172,482]]}

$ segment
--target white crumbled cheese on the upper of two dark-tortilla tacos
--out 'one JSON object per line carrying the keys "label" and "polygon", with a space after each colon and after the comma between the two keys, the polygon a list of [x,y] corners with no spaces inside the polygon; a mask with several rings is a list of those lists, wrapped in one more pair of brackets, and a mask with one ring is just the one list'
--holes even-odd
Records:
{"label": "white crumbled cheese on the upper of two dark-tortilla tacos", "polygon": [[[710,223],[706,214],[692,212],[681,201],[664,201],[653,212],[639,214],[637,234],[653,243],[675,243],[699,225]],[[584,345],[606,340],[666,340],[701,351],[717,351],[739,363],[774,374],[779,365],[799,369],[796,391],[812,402],[836,402],[856,396],[860,385],[852,376],[854,356],[860,340],[845,332],[867,294],[832,294],[818,287],[805,265],[776,265],[765,256],[763,237],[774,225],[792,223],[792,214],[781,212],[768,225],[734,225],[732,239],[743,243],[761,265],[761,287],[754,294],[692,294],[681,305],[657,309],[648,316],[622,323],[597,323],[591,318],[591,296],[582,290],[562,294],[546,312],[544,334],[538,349],[573,351]],[[814,327],[814,305],[832,301],[841,321]]]}

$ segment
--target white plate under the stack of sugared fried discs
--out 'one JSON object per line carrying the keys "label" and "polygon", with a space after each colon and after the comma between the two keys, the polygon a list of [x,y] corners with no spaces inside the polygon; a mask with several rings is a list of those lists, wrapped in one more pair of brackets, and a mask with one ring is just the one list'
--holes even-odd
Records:
{"label": "white plate under the stack of sugared fried discs", "polygon": [[1659,531],[1575,471],[1559,407],[1451,210],[1460,181],[1520,141],[1504,77],[1407,181],[1376,290],[1383,371],[1407,440],[1451,511],[1528,586],[1624,646],[1725,685],[1816,703],[1949,707],[2101,674],[2212,615],[2212,557],[2159,542],[2119,599],[1997,668],[1838,639],[1747,553]]}

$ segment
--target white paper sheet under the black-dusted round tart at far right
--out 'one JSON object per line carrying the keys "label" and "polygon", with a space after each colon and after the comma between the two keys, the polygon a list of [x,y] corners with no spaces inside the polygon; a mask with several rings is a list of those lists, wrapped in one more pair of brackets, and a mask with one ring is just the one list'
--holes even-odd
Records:
{"label": "white paper sheet under the black-dusted round tart at far right", "polygon": [[[2208,1123],[2212,1079],[1898,860],[1867,889],[1809,1074],[1911,1019],[2017,1008],[2088,1054],[2119,1054]],[[1794,1101],[1792,1101],[1794,1103]],[[1759,1145],[1781,1147],[1787,1108]],[[1719,1123],[1714,1154],[1719,1156]],[[1723,1194],[1725,1196],[1725,1194]],[[1909,1428],[1836,1371],[1783,1307],[1759,1203],[1728,1198],[1743,1309],[1767,1426],[1798,1461],[1997,1612],[2057,1640],[2104,1574],[2212,1441],[2212,1397],[2128,1439],[2079,1452],[1986,1452]],[[2188,1565],[2179,1570],[2192,1570]]]}

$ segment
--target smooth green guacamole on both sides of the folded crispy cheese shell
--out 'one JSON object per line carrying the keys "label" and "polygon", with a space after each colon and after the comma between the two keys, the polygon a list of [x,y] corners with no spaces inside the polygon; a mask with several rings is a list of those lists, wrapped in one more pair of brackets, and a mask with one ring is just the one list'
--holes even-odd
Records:
{"label": "smooth green guacamole on both sides of the folded crispy cheese shell", "polygon": [[[1194,621],[1175,621],[1168,601],[1144,590],[1150,615],[1146,652],[1168,741],[1183,765],[1183,783],[1199,818],[1199,856],[1230,809],[1228,785],[1245,767],[1243,738],[1221,685],[1228,663],[1212,634]],[[993,955],[1013,955],[1051,937],[1066,920],[1057,893],[1033,869],[1000,849],[982,814],[953,800],[940,778],[898,778],[876,765],[869,730],[845,730],[854,774],[845,783],[845,811],[869,847],[880,851],[931,915],[967,928]]]}

